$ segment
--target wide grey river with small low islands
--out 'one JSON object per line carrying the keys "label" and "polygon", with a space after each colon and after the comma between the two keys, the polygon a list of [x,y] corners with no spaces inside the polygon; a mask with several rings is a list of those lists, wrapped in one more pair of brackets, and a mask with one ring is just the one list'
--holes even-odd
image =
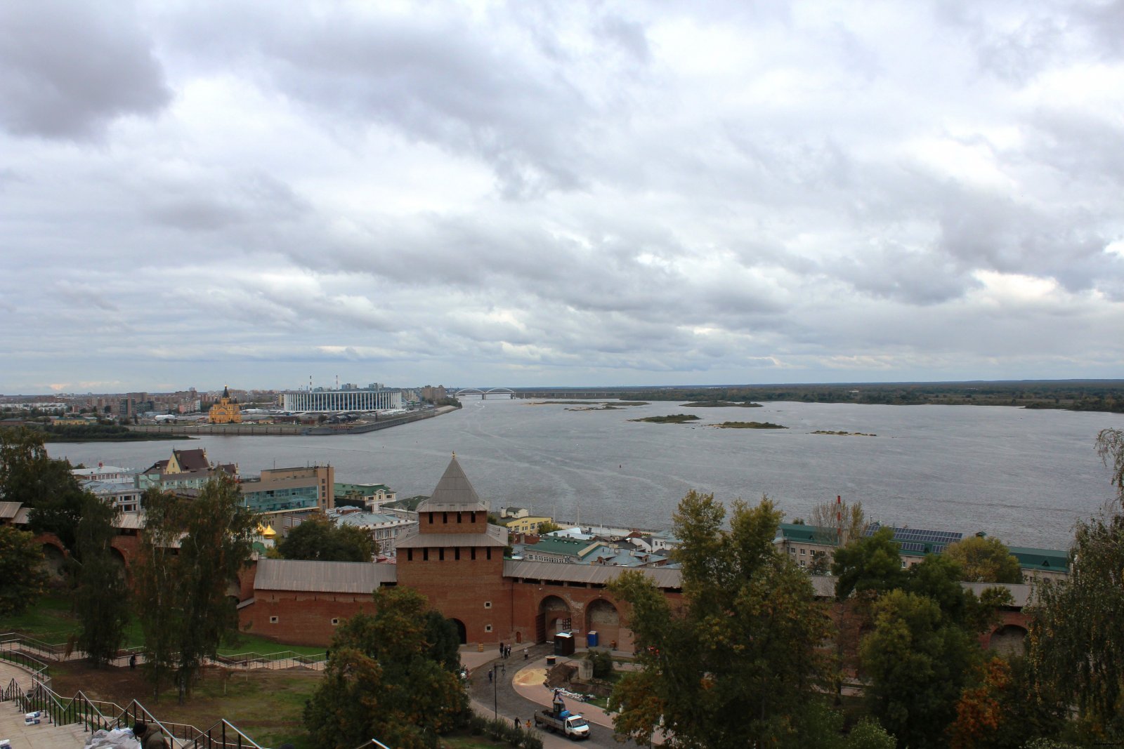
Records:
{"label": "wide grey river with small low islands", "polygon": [[[686,409],[652,403],[575,411],[517,400],[465,400],[460,411],[342,437],[202,437],[184,441],[52,444],[72,463],[146,468],[172,447],[207,449],[243,474],[330,463],[336,481],[429,494],[455,451],[493,509],[526,506],[583,524],[669,528],[689,490],[720,500],[769,495],[789,520],[816,503],[861,501],[883,523],[986,531],[1012,546],[1067,548],[1075,521],[1113,497],[1094,449],[1111,413],[1004,407],[765,403]],[[691,412],[691,424],[628,419]],[[772,421],[782,430],[714,429]],[[813,435],[815,430],[877,437]]]}

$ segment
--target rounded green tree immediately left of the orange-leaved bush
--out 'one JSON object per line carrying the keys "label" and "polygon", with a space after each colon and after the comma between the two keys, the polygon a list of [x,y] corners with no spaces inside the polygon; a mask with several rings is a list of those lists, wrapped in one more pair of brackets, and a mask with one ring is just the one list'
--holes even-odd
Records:
{"label": "rounded green tree immediately left of the orange-leaved bush", "polygon": [[871,714],[899,746],[943,747],[979,647],[924,595],[890,591],[874,612],[861,648]]}

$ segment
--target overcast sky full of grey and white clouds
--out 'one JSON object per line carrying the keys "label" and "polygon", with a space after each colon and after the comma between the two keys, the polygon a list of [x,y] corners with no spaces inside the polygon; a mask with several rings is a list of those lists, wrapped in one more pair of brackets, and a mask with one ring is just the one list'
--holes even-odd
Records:
{"label": "overcast sky full of grey and white clouds", "polygon": [[1124,376],[1124,2],[0,3],[0,392]]}

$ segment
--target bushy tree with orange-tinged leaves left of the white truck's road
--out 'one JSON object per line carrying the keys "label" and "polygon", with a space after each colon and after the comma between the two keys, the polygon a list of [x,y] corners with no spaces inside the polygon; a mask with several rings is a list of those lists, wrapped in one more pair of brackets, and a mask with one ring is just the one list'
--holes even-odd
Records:
{"label": "bushy tree with orange-tinged leaves left of the white truck's road", "polygon": [[456,628],[409,588],[379,588],[374,604],[374,615],[352,616],[333,638],[324,679],[305,709],[308,731],[335,749],[372,737],[402,749],[436,747],[468,710],[450,647]]}

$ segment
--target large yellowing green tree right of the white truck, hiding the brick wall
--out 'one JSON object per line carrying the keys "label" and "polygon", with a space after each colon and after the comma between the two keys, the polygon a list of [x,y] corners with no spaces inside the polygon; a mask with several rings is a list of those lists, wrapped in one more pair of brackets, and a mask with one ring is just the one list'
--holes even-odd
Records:
{"label": "large yellowing green tree right of the white truck, hiding the brick wall", "polygon": [[641,666],[610,697],[620,736],[643,743],[662,723],[671,747],[780,739],[827,681],[816,646],[831,622],[808,576],[772,544],[781,513],[767,499],[732,506],[724,531],[726,511],[713,494],[690,492],[680,502],[681,602],[637,570],[611,585],[629,610]]}

